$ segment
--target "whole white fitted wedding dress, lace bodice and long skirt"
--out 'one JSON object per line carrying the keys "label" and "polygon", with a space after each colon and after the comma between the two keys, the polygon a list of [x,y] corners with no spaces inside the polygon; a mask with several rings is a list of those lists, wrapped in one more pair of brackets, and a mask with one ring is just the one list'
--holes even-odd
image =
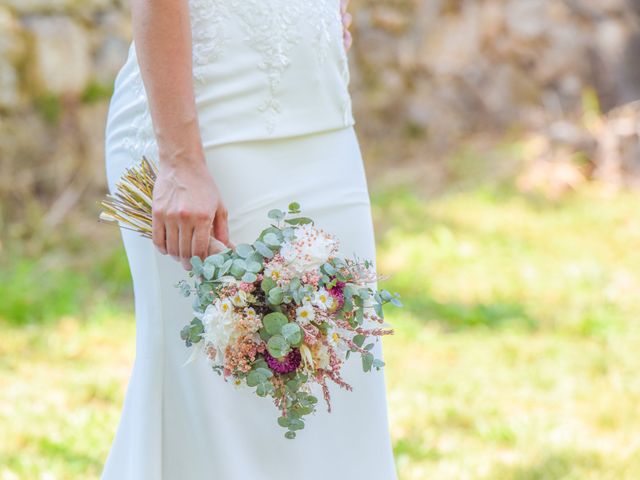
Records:
{"label": "whole white fitted wedding dress, lace bodice and long skirt", "polygon": [[[348,92],[339,0],[191,0],[193,73],[207,165],[233,242],[252,242],[271,208],[297,201],[342,254],[375,260],[367,184]],[[167,75],[171,75],[167,71]],[[109,110],[113,190],[142,155],[156,158],[130,49]],[[180,329],[185,272],[151,241],[122,231],[133,276],[136,359],[103,480],[394,480],[384,373],[352,357],[346,392],[330,386],[295,440],[270,399],[239,389],[190,355]],[[374,353],[382,357],[381,344]]]}

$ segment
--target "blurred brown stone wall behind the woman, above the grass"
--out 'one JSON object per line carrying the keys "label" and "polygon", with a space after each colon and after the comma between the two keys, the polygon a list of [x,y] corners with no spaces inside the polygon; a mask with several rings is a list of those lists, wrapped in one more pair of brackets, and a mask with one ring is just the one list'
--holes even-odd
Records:
{"label": "blurred brown stone wall behind the woman, above the grass", "polygon": [[[478,133],[549,139],[565,124],[574,135],[560,142],[592,145],[598,161],[585,92],[605,112],[640,98],[639,4],[352,0],[364,143],[420,162]],[[55,225],[84,192],[102,191],[106,104],[130,36],[126,0],[0,0],[3,204],[24,214],[35,201]]]}

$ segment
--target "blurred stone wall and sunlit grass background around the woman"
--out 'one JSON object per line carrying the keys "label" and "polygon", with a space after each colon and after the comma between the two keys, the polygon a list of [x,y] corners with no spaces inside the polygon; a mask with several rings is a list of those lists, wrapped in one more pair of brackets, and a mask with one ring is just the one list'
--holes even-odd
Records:
{"label": "blurred stone wall and sunlit grass background around the woman", "polygon": [[[640,478],[640,1],[353,0],[401,480]],[[97,478],[134,357],[98,224],[126,1],[0,0],[0,479]]]}

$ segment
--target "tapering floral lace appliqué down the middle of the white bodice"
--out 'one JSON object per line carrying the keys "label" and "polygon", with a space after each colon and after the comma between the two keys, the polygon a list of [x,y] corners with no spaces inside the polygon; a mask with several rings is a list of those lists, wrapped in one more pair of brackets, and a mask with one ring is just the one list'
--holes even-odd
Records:
{"label": "tapering floral lace appliqu\u00e9 down the middle of the white bodice", "polygon": [[258,110],[266,116],[267,130],[273,133],[282,111],[277,99],[282,75],[291,64],[291,49],[300,41],[297,27],[304,12],[303,3],[232,0],[231,8],[242,21],[246,42],[262,56],[258,67],[267,75],[269,91]]}

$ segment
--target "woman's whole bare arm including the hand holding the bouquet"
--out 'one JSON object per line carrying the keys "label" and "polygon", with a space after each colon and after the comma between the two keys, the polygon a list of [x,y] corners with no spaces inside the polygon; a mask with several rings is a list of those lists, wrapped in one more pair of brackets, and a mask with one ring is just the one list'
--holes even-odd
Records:
{"label": "woman's whole bare arm including the hand holding the bouquet", "polygon": [[153,242],[189,267],[229,244],[227,211],[207,170],[193,91],[187,0],[132,0],[133,36],[159,147]]}

